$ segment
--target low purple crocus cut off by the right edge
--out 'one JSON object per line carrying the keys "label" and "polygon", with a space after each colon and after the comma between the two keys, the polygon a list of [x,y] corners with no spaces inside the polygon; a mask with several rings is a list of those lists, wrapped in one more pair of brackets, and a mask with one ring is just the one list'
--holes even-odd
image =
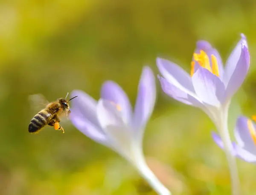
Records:
{"label": "low purple crocus cut off by the right edge", "polygon": [[[236,143],[233,142],[233,155],[244,161],[256,163],[256,125],[244,116],[238,117],[234,130]],[[224,144],[220,136],[212,132],[212,138],[223,149]]]}

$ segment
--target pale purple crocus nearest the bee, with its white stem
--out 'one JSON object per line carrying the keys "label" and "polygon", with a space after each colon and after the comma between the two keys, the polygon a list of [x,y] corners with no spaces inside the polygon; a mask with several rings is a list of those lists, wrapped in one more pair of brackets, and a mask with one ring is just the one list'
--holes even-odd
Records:
{"label": "pale purple crocus nearest the bee, with its white stem", "polygon": [[148,168],[143,155],[143,134],[156,100],[155,78],[151,69],[143,68],[134,112],[126,93],[112,81],[102,85],[98,102],[80,90],[74,90],[72,96],[78,96],[72,102],[70,113],[75,127],[122,155],[159,194],[170,195]]}

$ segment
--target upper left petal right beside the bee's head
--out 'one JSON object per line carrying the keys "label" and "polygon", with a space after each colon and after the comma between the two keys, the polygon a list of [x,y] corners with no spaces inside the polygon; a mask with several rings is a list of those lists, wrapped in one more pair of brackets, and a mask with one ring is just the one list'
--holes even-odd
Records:
{"label": "upper left petal right beside the bee's head", "polygon": [[81,90],[73,90],[71,96],[78,96],[76,99],[71,101],[72,112],[81,113],[85,119],[93,123],[95,126],[99,126],[96,116],[96,100]]}

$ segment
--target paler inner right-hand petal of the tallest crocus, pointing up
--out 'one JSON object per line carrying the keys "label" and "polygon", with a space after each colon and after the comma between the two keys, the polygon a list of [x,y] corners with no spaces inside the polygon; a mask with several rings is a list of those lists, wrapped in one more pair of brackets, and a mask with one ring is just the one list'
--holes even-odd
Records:
{"label": "paler inner right-hand petal of the tallest crocus, pointing up", "polygon": [[[224,85],[225,86],[227,86],[227,84],[230,82],[230,78],[232,77],[233,72],[236,69],[237,62],[239,61],[240,56],[241,56],[242,46],[245,46],[246,48],[248,48],[247,40],[246,40],[246,37],[244,36],[244,34],[241,34],[241,39],[239,40],[236,47],[234,48],[234,50],[230,54],[229,58],[227,59],[227,63],[226,63],[225,69],[224,69],[224,71],[225,71]],[[244,66],[246,66],[246,65],[244,65]]]}

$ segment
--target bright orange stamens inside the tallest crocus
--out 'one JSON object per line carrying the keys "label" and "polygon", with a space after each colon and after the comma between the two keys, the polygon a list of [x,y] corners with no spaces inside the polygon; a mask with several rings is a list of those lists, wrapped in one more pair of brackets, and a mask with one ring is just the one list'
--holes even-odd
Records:
{"label": "bright orange stamens inside the tallest crocus", "polygon": [[193,76],[193,74],[195,73],[195,62],[198,62],[198,64],[201,67],[206,68],[208,71],[215,74],[216,76],[219,76],[217,59],[213,54],[211,55],[212,67],[210,64],[209,57],[203,50],[200,50],[200,54],[194,53],[193,57],[195,61],[191,62],[191,72],[190,72],[191,76]]}

